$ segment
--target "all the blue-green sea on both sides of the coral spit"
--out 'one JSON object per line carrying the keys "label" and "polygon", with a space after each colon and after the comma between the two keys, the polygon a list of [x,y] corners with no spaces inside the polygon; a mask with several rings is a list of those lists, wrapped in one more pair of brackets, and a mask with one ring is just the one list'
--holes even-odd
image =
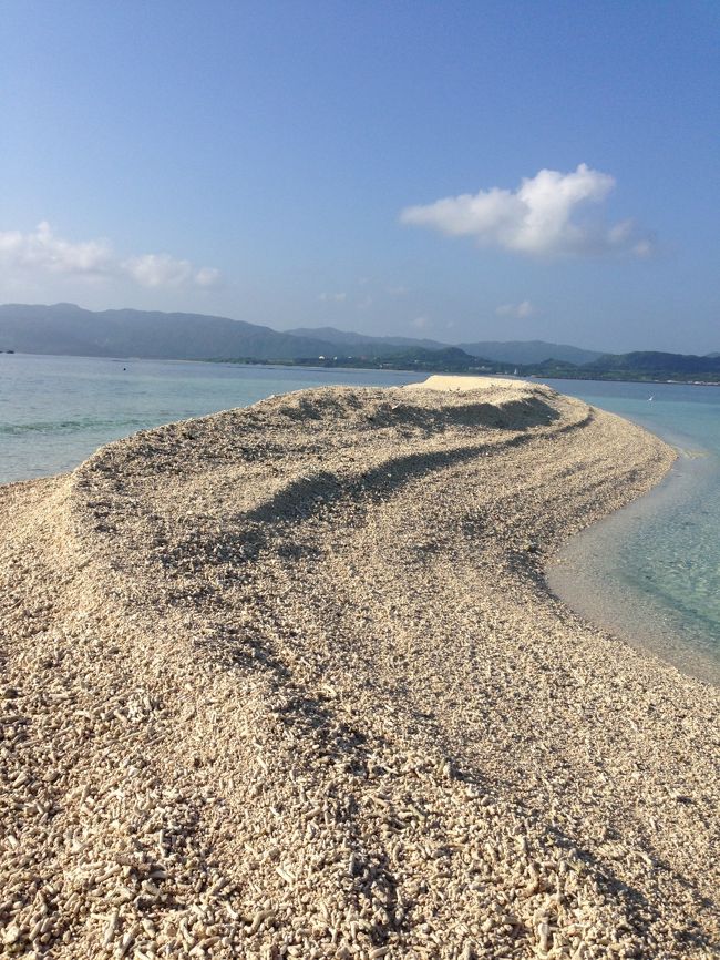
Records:
{"label": "all the blue-green sea on both sides of the coral spit", "polygon": [[[136,430],[272,394],[424,375],[0,355],[0,482],[71,470]],[[720,683],[720,387],[548,380],[679,451],[649,496],[574,538],[551,586],[579,613]]]}

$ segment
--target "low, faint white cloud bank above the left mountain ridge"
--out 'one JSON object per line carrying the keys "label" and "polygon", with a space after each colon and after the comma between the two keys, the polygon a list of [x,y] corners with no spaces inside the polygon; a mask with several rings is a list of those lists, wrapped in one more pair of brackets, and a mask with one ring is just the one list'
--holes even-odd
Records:
{"label": "low, faint white cloud bank above the left mountain ridge", "polygon": [[63,239],[44,221],[27,234],[0,231],[0,270],[6,275],[50,274],[89,280],[130,278],[143,287],[207,287],[219,279],[219,270],[197,268],[169,254],[120,258],[105,239]]}

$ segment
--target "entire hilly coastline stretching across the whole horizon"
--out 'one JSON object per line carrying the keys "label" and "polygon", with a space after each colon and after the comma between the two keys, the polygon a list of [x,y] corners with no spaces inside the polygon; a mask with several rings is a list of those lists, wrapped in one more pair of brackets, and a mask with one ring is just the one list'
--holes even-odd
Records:
{"label": "entire hilly coastline stretching across the whole horizon", "polygon": [[85,310],[74,304],[0,306],[0,353],[209,360],[312,367],[504,374],[521,377],[720,384],[720,353],[610,354],[544,340],[448,345],[333,327],[285,333],[204,314]]}

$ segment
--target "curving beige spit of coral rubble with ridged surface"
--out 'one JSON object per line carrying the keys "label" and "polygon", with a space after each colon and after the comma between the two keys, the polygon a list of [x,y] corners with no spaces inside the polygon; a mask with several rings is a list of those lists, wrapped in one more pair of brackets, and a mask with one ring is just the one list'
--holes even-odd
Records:
{"label": "curving beige spit of coral rubble with ridged surface", "polygon": [[2,956],[717,957],[719,693],[541,576],[671,460],[332,388],[2,488]]}

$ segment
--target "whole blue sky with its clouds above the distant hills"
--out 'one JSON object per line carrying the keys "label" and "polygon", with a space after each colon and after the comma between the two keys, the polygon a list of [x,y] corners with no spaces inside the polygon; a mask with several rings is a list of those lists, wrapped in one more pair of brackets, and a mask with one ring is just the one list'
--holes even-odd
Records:
{"label": "whole blue sky with its clouds above the distant hills", "polygon": [[6,0],[0,302],[720,350],[720,4]]}

